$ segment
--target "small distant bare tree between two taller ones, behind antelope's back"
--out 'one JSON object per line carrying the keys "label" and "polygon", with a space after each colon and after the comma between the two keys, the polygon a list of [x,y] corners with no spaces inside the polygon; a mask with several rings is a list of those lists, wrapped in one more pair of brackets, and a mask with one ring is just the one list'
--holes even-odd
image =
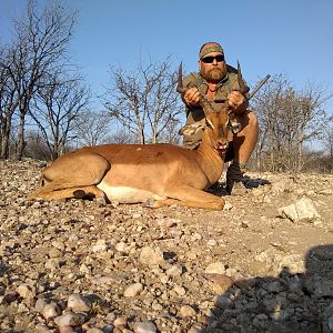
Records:
{"label": "small distant bare tree between two taller ones, behind antelope's back", "polygon": [[97,145],[107,142],[111,118],[109,112],[85,111],[74,121],[73,133],[83,145]]}

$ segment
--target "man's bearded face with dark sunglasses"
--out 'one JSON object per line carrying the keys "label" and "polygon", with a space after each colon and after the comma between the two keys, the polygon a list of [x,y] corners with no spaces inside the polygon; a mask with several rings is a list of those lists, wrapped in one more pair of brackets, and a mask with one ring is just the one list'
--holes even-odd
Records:
{"label": "man's bearded face with dark sunglasses", "polygon": [[208,81],[218,83],[226,74],[226,63],[223,54],[211,52],[199,60],[200,73]]}

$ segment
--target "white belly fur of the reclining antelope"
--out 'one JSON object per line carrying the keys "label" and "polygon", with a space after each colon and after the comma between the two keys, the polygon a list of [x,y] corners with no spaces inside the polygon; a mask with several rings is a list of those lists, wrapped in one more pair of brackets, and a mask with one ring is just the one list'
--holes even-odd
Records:
{"label": "white belly fur of the reclining antelope", "polygon": [[97,186],[105,193],[110,201],[117,201],[119,203],[139,203],[145,202],[149,199],[165,199],[165,196],[157,195],[150,191],[130,186],[109,186],[103,182],[99,183]]}

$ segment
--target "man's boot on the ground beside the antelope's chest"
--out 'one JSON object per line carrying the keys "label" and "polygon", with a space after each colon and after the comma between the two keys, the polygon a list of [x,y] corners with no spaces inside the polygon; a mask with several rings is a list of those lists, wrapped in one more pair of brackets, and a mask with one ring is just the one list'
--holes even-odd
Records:
{"label": "man's boot on the ground beside the antelope's chest", "polygon": [[226,171],[226,192],[228,194],[242,195],[248,192],[243,183],[243,174],[246,172],[246,165],[233,161]]}

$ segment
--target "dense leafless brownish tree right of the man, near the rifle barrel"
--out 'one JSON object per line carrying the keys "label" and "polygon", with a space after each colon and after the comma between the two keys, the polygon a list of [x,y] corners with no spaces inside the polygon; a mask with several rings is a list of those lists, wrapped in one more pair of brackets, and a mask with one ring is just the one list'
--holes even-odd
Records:
{"label": "dense leafless brownish tree right of the man, near the rifle barrel", "polygon": [[[256,158],[272,171],[301,171],[304,143],[319,139],[330,122],[324,109],[331,97],[321,85],[296,91],[283,75],[273,77],[254,98],[260,120]],[[306,154],[311,157],[311,154]]]}

